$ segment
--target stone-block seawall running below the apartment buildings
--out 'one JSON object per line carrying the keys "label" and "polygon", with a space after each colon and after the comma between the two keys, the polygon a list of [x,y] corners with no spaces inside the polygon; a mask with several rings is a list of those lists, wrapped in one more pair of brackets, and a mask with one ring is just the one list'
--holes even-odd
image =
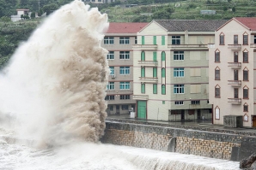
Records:
{"label": "stone-block seawall running below the apartment buildings", "polygon": [[253,132],[133,120],[107,119],[101,142],[232,161],[241,161],[256,152]]}

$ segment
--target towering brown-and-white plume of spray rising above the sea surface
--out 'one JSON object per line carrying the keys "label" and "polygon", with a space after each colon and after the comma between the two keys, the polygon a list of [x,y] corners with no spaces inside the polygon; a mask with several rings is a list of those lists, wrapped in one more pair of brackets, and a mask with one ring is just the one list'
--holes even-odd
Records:
{"label": "towering brown-and-white plume of spray rising above the sea surface", "polygon": [[22,136],[47,145],[101,138],[108,65],[100,44],[107,27],[107,15],[75,0],[15,51],[0,76],[0,112],[15,117]]}

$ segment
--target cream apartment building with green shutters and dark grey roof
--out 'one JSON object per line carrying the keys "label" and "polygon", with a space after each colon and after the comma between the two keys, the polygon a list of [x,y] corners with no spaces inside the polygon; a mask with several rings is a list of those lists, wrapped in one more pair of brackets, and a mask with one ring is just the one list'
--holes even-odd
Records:
{"label": "cream apartment building with green shutters and dark grey roof", "polygon": [[137,118],[210,119],[209,50],[226,21],[152,21],[133,46]]}

